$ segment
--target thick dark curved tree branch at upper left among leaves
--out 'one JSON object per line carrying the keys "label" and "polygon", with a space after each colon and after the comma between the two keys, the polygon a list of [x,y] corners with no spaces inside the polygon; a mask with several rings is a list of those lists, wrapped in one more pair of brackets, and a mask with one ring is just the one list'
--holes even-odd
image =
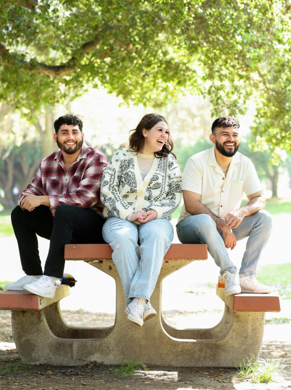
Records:
{"label": "thick dark curved tree branch at upper left among leaves", "polygon": [[17,53],[11,54],[2,43],[0,43],[0,58],[2,58],[7,65],[12,65],[15,60],[17,60],[18,64],[20,62],[20,64],[28,69],[30,73],[42,73],[47,76],[64,76],[73,73],[85,55],[94,50],[97,44],[101,42],[100,35],[102,32],[111,30],[112,28],[113,27],[109,26],[102,28],[102,30],[95,35],[92,41],[86,42],[80,48],[74,50],[72,52],[72,57],[67,62],[60,65],[46,65],[42,62],[36,62],[34,59],[25,61]]}

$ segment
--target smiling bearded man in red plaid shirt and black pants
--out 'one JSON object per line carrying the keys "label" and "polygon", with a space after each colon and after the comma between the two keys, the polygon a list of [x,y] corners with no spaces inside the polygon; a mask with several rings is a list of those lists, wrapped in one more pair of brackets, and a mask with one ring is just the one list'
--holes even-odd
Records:
{"label": "smiling bearded man in red plaid shirt and black pants", "polygon": [[[53,298],[63,277],[65,244],[104,242],[100,184],[108,163],[104,154],[83,143],[81,119],[65,115],[54,127],[60,150],[42,160],[11,213],[26,275],[5,285],[46,298]],[[36,234],[50,240],[43,273]]]}

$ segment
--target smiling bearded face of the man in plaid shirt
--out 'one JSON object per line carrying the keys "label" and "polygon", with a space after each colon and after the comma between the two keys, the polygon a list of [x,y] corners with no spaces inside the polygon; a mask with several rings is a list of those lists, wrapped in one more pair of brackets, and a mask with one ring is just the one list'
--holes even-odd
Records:
{"label": "smiling bearded face of the man in plaid shirt", "polygon": [[62,124],[54,140],[58,147],[66,154],[74,154],[81,149],[84,135],[78,125]]}

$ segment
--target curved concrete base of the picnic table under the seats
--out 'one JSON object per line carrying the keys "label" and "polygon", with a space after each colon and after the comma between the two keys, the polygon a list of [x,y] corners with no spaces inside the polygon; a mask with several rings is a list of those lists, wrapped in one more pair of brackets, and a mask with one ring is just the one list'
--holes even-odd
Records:
{"label": "curved concrete base of the picnic table under the seats", "polygon": [[13,310],[12,330],[23,363],[83,365],[96,361],[119,365],[124,359],[146,365],[235,367],[243,358],[259,355],[263,311],[235,312],[228,303],[220,323],[213,328],[178,330],[166,323],[161,313],[162,279],[191,260],[164,262],[151,297],[157,316],[145,321],[143,327],[127,319],[121,281],[112,260],[88,262],[115,278],[115,324],[108,328],[70,327],[63,321],[59,302],[39,311]]}

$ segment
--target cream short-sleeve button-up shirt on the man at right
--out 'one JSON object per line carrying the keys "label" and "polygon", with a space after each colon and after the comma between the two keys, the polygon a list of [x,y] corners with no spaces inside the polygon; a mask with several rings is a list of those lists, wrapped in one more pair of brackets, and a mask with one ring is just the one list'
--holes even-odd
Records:
{"label": "cream short-sleeve button-up shirt on the man at right", "polygon": [[[240,207],[243,192],[251,195],[261,191],[262,185],[252,161],[240,152],[233,156],[224,176],[216,162],[213,147],[189,158],[183,174],[182,190],[198,193],[201,203],[213,214],[224,218]],[[183,205],[178,222],[189,215]]]}

